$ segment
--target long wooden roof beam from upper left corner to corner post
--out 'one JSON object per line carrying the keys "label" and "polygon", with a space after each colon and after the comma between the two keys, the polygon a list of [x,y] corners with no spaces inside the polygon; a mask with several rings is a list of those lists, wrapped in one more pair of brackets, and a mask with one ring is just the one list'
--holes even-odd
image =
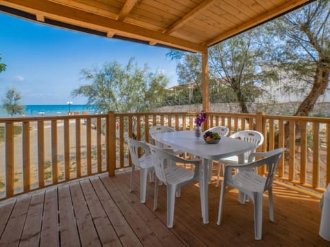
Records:
{"label": "long wooden roof beam from upper left corner to corner post", "polygon": [[42,13],[45,18],[55,21],[62,21],[80,27],[93,28],[94,30],[101,30],[102,32],[114,32],[115,34],[127,38],[135,38],[144,41],[152,40],[162,45],[199,53],[207,50],[207,47],[203,45],[192,43],[182,38],[168,36],[162,32],[148,30],[144,27],[124,23],[122,21],[115,21],[105,16],[99,16],[50,1],[0,0],[0,4],[16,8],[17,10],[30,12],[31,14],[36,14],[37,12]]}

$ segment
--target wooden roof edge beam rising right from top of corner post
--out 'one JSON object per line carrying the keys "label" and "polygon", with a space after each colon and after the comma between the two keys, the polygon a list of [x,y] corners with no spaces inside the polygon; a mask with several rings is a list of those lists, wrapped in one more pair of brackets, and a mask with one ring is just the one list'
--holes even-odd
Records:
{"label": "wooden roof edge beam rising right from top of corner post", "polygon": [[256,18],[251,19],[250,21],[247,21],[246,23],[243,23],[243,25],[239,25],[238,27],[231,29],[228,32],[224,32],[223,34],[220,34],[219,36],[215,36],[214,38],[208,40],[204,45],[206,45],[207,47],[210,47],[211,45],[214,45],[214,44],[219,43],[236,34],[249,30],[252,27],[260,25],[261,23],[264,23],[265,21],[273,19],[276,16],[284,14],[285,12],[287,12],[289,10],[292,10],[300,5],[303,5],[303,4],[311,2],[311,1],[315,1],[315,0],[287,1],[283,5],[279,6],[278,8],[274,8],[274,10],[271,10],[270,12],[261,14],[260,16],[257,16]]}

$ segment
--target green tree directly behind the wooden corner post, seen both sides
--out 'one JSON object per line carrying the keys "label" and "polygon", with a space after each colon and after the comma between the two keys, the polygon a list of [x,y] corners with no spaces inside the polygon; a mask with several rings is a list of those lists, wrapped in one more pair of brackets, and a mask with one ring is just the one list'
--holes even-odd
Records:
{"label": "green tree directly behind the wooden corner post, seen both sides", "polygon": [[[263,91],[262,84],[276,73],[266,67],[269,41],[261,28],[225,40],[209,49],[210,98],[217,102],[239,102],[242,113],[248,113],[247,102],[253,102]],[[265,42],[266,41],[266,42]],[[267,51],[267,52],[266,52]],[[197,54],[171,51],[168,56],[179,61],[179,82],[186,78],[201,88],[201,58]],[[194,59],[192,59],[194,58]],[[266,80],[267,78],[267,80]]]}

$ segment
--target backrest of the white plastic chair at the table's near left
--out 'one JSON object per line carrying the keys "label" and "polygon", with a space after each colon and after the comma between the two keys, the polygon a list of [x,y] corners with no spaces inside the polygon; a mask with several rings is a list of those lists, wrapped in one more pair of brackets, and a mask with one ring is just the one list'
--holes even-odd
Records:
{"label": "backrest of the white plastic chair at the table's near left", "polygon": [[155,174],[159,181],[167,184],[166,174],[164,169],[167,167],[167,164],[170,163],[170,154],[164,150],[161,150],[154,145],[149,145],[151,156],[153,156],[153,166],[155,167]]}

